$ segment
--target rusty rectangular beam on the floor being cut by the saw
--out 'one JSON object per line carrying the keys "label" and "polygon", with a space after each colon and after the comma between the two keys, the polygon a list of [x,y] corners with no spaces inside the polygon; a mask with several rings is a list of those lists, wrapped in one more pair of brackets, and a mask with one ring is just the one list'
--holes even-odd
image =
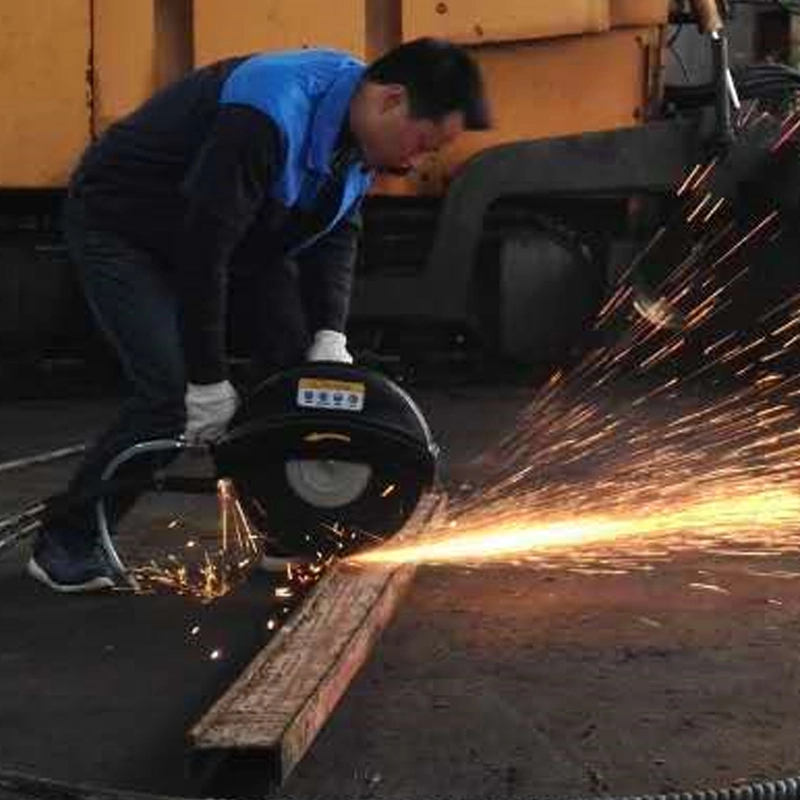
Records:
{"label": "rusty rectangular beam on the floor being cut by the saw", "polygon": [[[402,532],[441,513],[424,499]],[[333,567],[272,641],[191,730],[193,763],[213,768],[240,757],[283,783],[367,660],[415,567]]]}

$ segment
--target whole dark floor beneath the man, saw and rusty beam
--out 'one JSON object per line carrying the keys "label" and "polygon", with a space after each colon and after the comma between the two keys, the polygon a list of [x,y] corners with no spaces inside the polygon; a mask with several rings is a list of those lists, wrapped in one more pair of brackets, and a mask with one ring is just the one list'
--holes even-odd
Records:
{"label": "whole dark floor beneath the man, saw and rusty beam", "polygon": [[[416,393],[450,474],[525,393]],[[2,414],[4,457],[80,441],[106,403]],[[0,508],[60,488],[62,463],[2,476]],[[163,513],[163,510],[159,513]],[[263,644],[273,585],[203,607],[64,598],[0,559],[2,766],[148,792],[261,796],[252,770],[187,777],[184,734]],[[662,792],[800,767],[798,561],[697,554],[652,572],[423,568],[306,759],[275,797],[422,800]],[[727,592],[700,591],[697,582]],[[187,635],[201,625],[201,636]],[[224,658],[209,660],[221,648]]]}

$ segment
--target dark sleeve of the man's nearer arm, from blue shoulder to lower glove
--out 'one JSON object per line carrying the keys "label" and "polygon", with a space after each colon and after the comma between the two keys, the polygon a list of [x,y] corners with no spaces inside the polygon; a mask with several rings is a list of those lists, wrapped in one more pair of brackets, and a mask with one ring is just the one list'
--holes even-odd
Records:
{"label": "dark sleeve of the man's nearer arm, from blue shoulder to lower glove", "polygon": [[183,184],[178,308],[188,379],[226,377],[228,262],[283,161],[275,123],[248,106],[222,106]]}

